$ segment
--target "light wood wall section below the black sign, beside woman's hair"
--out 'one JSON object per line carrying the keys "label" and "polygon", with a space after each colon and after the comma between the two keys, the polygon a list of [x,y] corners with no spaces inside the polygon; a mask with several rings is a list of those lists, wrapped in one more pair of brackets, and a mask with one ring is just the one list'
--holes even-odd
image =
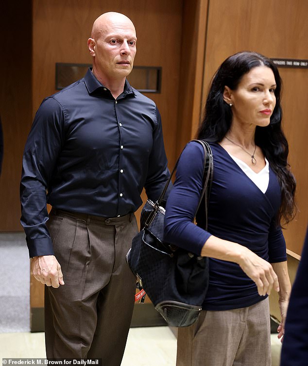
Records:
{"label": "light wood wall section below the black sign, beside woman's hair", "polygon": [[[307,25],[306,29],[308,32]],[[307,47],[305,51],[304,58],[308,59]],[[283,80],[283,128],[289,142],[289,163],[297,182],[298,206],[297,215],[286,227],[284,236],[288,249],[301,254],[308,225],[308,69],[280,68],[279,71]]]}

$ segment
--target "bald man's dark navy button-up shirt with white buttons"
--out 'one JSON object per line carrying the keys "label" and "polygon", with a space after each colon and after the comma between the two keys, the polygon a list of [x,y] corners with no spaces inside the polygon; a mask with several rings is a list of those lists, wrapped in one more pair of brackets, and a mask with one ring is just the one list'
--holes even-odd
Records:
{"label": "bald man's dark navy button-up shirt with white buttons", "polygon": [[20,200],[30,257],[53,254],[46,203],[124,216],[141,205],[143,187],[157,200],[169,175],[154,101],[127,81],[115,100],[89,69],[43,100],[26,142]]}

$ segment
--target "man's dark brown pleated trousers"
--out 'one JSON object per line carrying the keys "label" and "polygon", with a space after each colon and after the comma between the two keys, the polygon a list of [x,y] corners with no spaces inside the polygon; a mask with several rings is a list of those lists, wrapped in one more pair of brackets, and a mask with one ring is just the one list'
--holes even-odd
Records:
{"label": "man's dark brown pleated trousers", "polygon": [[48,221],[65,285],[45,286],[47,358],[101,358],[120,366],[136,278],[125,263],[134,214],[105,219],[51,211]]}

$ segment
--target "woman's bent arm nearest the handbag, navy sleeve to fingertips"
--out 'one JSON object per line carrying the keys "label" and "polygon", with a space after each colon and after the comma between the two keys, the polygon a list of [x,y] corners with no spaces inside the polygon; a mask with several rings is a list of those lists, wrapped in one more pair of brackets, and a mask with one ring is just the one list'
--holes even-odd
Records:
{"label": "woman's bent arm nearest the handbag, navy sleeve to fingertips", "polygon": [[192,219],[203,188],[204,152],[198,143],[188,143],[183,151],[176,180],[167,200],[164,240],[198,255],[234,262],[257,285],[259,295],[279,291],[273,267],[248,248],[220,239]]}

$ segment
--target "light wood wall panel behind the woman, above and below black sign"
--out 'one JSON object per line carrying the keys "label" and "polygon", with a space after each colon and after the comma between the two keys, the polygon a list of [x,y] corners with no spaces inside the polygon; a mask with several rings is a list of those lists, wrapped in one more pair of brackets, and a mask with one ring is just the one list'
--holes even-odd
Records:
{"label": "light wood wall panel behind the woman, above and below black sign", "polygon": [[[308,59],[306,0],[209,0],[202,105],[210,80],[231,54],[254,50],[268,57]],[[283,126],[297,178],[299,213],[284,231],[287,246],[300,254],[308,222],[308,70],[280,68],[284,83]],[[197,126],[193,126],[196,130]]]}

